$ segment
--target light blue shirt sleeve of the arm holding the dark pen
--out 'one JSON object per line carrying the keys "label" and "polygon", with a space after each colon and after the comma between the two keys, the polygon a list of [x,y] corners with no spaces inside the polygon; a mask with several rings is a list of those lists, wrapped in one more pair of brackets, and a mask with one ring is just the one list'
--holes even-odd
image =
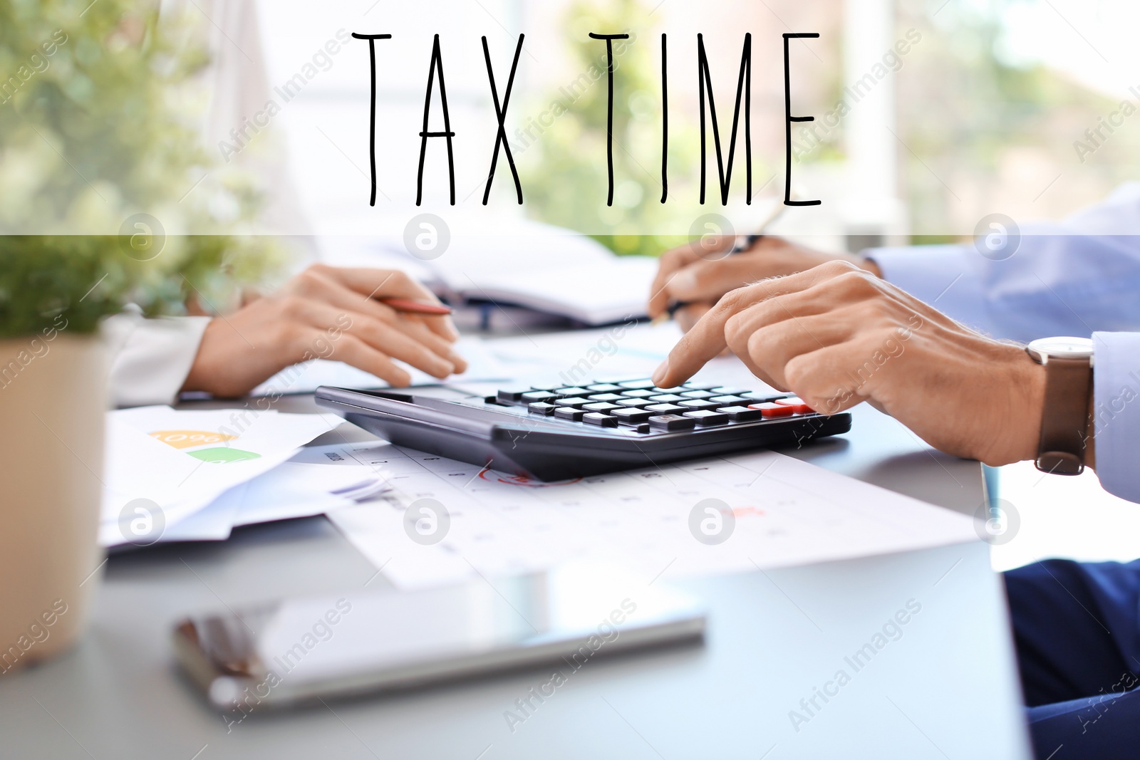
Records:
{"label": "light blue shirt sleeve of the arm holding the dark pen", "polygon": [[1140,330],[1140,183],[1058,223],[1027,224],[1000,261],[974,245],[871,248],[883,277],[994,337]]}

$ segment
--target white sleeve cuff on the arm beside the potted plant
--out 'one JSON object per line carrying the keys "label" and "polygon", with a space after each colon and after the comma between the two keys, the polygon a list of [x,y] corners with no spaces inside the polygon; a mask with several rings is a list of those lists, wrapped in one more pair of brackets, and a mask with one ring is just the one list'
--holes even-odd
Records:
{"label": "white sleeve cuff on the arm beside the potted plant", "polygon": [[105,319],[112,404],[141,407],[177,401],[209,324],[210,317],[146,319],[137,308]]}

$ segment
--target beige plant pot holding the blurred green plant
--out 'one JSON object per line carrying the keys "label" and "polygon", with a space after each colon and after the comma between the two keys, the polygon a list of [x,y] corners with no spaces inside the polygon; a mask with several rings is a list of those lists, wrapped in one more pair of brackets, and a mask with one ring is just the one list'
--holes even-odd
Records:
{"label": "beige plant pot holding the blurred green plant", "polygon": [[0,683],[74,644],[88,616],[106,377],[98,336],[0,341]]}

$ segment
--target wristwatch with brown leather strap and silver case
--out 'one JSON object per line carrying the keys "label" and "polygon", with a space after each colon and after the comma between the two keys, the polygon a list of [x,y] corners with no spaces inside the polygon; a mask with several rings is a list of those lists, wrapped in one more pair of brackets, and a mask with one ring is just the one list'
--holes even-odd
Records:
{"label": "wristwatch with brown leather strap and silver case", "polygon": [[1092,341],[1043,337],[1025,348],[1045,368],[1045,406],[1041,412],[1037,469],[1058,475],[1084,472],[1084,448],[1092,394]]}

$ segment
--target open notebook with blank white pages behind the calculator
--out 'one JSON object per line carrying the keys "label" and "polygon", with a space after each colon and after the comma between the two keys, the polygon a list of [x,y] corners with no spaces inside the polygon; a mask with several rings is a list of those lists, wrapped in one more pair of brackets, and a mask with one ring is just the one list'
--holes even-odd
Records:
{"label": "open notebook with blank white pages behind the calculator", "polygon": [[325,238],[321,248],[328,263],[398,268],[440,294],[516,304],[586,325],[644,317],[657,271],[654,258],[617,256],[589,237],[535,222],[456,231],[432,261],[386,237]]}

